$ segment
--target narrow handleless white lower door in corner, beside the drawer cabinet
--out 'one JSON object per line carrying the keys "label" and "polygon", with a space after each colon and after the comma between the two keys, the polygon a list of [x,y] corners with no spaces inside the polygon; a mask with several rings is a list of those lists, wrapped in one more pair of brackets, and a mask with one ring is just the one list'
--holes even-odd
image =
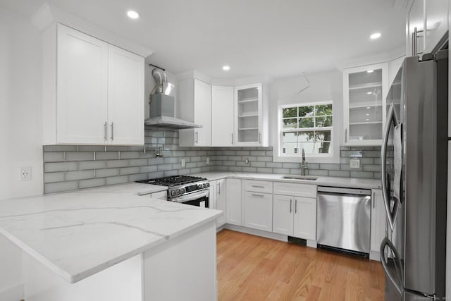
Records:
{"label": "narrow handleless white lower door in corner, beside the drawer cabinet", "polygon": [[241,226],[241,180],[226,179],[226,223]]}

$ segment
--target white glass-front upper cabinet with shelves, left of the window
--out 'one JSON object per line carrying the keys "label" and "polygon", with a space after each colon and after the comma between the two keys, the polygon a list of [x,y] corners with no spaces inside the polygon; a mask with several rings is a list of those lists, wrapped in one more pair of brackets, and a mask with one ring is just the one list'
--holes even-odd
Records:
{"label": "white glass-front upper cabinet with shelves, left of the window", "polygon": [[261,82],[235,87],[235,145],[264,145]]}

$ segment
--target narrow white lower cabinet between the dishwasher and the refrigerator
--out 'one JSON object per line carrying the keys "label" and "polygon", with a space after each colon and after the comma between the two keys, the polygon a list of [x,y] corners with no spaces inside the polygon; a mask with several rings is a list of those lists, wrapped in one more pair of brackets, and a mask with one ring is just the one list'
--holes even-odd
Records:
{"label": "narrow white lower cabinet between the dishwasher and the refrigerator", "polygon": [[370,259],[376,254],[379,254],[381,242],[385,238],[386,219],[385,207],[383,204],[382,190],[373,189],[373,197],[371,199],[371,242],[370,242]]}

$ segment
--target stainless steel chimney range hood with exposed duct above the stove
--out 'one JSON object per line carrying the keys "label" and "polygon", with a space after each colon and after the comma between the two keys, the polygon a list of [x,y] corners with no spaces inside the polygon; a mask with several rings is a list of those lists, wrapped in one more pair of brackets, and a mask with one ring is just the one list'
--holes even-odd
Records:
{"label": "stainless steel chimney range hood with exposed duct above the stove", "polygon": [[202,128],[202,125],[175,118],[175,99],[172,95],[174,85],[168,82],[166,73],[162,71],[163,69],[159,69],[161,68],[154,68],[152,70],[152,76],[156,80],[156,85],[149,95],[150,117],[144,121],[144,125],[171,130]]}

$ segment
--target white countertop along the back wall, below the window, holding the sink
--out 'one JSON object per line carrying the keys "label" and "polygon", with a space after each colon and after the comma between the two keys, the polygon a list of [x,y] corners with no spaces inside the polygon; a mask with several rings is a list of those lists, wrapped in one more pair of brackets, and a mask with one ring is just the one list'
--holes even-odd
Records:
{"label": "white countertop along the back wall, below the window, holding the sink", "polygon": [[345,188],[366,188],[366,189],[382,189],[381,180],[365,179],[365,178],[337,178],[337,177],[318,177],[316,180],[297,180],[285,179],[276,173],[234,173],[226,171],[212,171],[209,173],[196,173],[191,176],[207,178],[209,180],[218,180],[221,178],[241,178],[252,180],[271,180],[286,183],[304,183],[313,185],[325,185],[333,187]]}

